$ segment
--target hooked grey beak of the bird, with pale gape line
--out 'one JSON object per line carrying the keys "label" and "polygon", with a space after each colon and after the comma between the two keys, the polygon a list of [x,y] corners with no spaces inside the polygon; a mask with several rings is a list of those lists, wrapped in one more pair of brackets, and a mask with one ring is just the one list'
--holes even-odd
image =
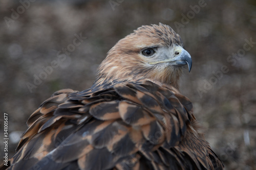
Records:
{"label": "hooked grey beak of the bird, with pale gape line", "polygon": [[187,51],[185,51],[184,48],[182,48],[180,46],[177,47],[177,52],[179,52],[179,54],[172,59],[150,62],[150,64],[170,62],[170,63],[173,63],[173,65],[187,65],[188,72],[190,72],[190,70],[192,68],[192,59],[191,59],[190,54]]}

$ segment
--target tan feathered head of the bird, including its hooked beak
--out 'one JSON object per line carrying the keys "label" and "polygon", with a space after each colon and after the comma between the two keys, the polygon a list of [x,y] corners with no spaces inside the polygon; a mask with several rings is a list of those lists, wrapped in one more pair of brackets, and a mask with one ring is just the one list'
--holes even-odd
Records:
{"label": "tan feathered head of the bird, including its hooked beak", "polygon": [[178,88],[192,60],[178,34],[167,25],[142,26],[119,40],[100,64],[96,81],[150,79]]}

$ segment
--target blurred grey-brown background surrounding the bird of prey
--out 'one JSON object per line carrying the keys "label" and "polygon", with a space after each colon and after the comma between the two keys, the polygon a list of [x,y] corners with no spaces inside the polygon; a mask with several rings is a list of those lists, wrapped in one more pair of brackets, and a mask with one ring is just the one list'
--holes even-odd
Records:
{"label": "blurred grey-brown background surrounding the bird of prey", "polygon": [[84,90],[110,48],[162,22],[193,58],[180,91],[226,169],[256,169],[256,1],[0,1],[0,124],[9,158],[26,120],[56,90]]}

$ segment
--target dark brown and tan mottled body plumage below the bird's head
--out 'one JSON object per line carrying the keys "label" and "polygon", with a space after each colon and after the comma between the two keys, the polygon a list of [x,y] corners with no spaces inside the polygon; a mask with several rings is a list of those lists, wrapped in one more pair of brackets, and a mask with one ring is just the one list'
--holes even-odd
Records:
{"label": "dark brown and tan mottled body plumage below the bird's head", "polygon": [[220,163],[201,134],[190,135],[192,105],[176,89],[144,81],[76,94],[55,92],[33,124],[31,115],[9,169],[214,169]]}

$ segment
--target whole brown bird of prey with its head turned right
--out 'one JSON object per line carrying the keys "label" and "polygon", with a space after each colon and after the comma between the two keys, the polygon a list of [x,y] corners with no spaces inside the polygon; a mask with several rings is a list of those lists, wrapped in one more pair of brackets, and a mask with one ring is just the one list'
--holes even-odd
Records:
{"label": "whole brown bird of prey with its head turned right", "polygon": [[223,169],[178,91],[191,66],[172,28],[138,28],[89,89],[56,91],[31,114],[8,169]]}

